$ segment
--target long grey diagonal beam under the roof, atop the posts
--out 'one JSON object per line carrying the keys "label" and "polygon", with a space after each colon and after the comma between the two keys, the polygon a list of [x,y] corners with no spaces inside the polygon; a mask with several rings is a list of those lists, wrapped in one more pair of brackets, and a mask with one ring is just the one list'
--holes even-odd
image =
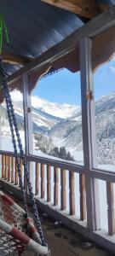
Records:
{"label": "long grey diagonal beam under the roof, atop the posts", "polygon": [[80,27],[76,32],[73,32],[66,39],[62,40],[56,46],[48,49],[45,53],[38,56],[34,61],[20,68],[9,77],[9,83],[14,82],[23,73],[34,73],[37,68],[43,67],[46,63],[52,63],[62,55],[67,54],[72,49],[75,49],[80,40],[84,37],[93,37],[100,32],[115,25],[115,6],[112,6],[109,11],[106,11],[90,20],[85,26]]}

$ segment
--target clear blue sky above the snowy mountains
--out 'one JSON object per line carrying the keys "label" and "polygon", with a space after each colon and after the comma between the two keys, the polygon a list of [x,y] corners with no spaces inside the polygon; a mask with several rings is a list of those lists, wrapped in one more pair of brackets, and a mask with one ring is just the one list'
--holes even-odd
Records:
{"label": "clear blue sky above the snowy mountains", "polygon": [[[115,91],[115,57],[103,64],[94,74],[95,100]],[[49,75],[38,82],[32,95],[49,102],[81,104],[80,72],[71,73],[67,69]]]}

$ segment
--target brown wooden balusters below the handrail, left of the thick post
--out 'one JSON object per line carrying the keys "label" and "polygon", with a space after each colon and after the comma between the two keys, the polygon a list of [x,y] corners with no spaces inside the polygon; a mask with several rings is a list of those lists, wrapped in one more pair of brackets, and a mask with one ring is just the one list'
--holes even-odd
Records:
{"label": "brown wooden balusters below the handrail, left of the thick post", "polygon": [[[2,179],[7,181],[14,186],[20,187],[20,182],[18,178],[18,171],[15,166],[14,154],[7,153],[2,154]],[[19,155],[20,159],[20,155]],[[76,212],[76,184],[75,176],[76,172],[74,170],[66,170],[65,168],[60,168],[53,165],[55,162],[50,164],[43,164],[37,160],[36,157],[30,157],[29,160],[33,163],[32,172],[34,172],[34,178],[32,180],[32,186],[35,188],[35,195],[39,199],[49,202],[50,204],[57,206],[61,211],[66,211],[69,215],[78,215]],[[67,165],[67,164],[66,164]],[[69,165],[68,165],[69,166]],[[67,166],[67,167],[68,167]],[[70,165],[70,167],[72,167]],[[69,168],[68,168],[69,169]],[[22,177],[24,177],[24,170],[22,165],[22,160],[20,160],[20,170]],[[67,175],[67,172],[69,175]],[[68,183],[68,188],[67,188]],[[80,209],[80,219],[86,219],[86,193],[85,193],[85,177],[82,173],[79,174],[79,209]],[[67,209],[67,194],[69,194],[69,206]],[[45,198],[46,195],[46,198]]]}

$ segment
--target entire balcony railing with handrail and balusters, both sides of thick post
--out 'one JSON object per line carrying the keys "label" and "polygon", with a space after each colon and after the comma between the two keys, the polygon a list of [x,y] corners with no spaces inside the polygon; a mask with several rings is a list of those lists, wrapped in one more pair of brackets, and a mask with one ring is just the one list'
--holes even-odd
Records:
{"label": "entire balcony railing with handrail and balusters, both sides of thick post", "polygon": [[[13,153],[0,152],[1,157],[1,184],[5,183],[6,188],[9,185],[20,191],[20,183],[18,172],[15,166],[15,158]],[[20,160],[20,155],[19,155]],[[69,224],[70,227],[75,229],[78,221],[83,224],[82,231],[79,230],[78,225],[76,230],[82,232],[85,236],[89,236],[91,239],[95,237],[94,234],[99,234],[101,244],[104,244],[107,236],[101,236],[101,230],[93,233],[93,236],[89,235],[93,230],[84,231],[84,227],[87,226],[87,218],[89,212],[87,212],[87,188],[86,188],[86,173],[82,166],[74,166],[69,163],[62,163],[56,160],[43,159],[35,156],[27,156],[26,160],[28,164],[31,163],[32,172],[32,186],[34,188],[34,194],[37,201],[44,204],[45,207],[49,207],[54,212],[58,212],[60,216],[63,216],[63,221],[65,218],[70,219],[74,224]],[[20,160],[20,169],[24,180],[24,170],[22,165],[22,160]],[[95,171],[92,171],[90,178],[98,177],[98,179],[106,180],[106,202],[107,202],[107,221],[108,221],[108,247],[113,244],[113,239],[111,241],[110,237],[115,235],[115,212],[114,212],[114,175],[108,176],[105,172],[101,172],[100,175]],[[79,188],[79,191],[78,191]],[[78,192],[77,192],[78,191]],[[18,192],[19,193],[19,192]],[[78,194],[78,195],[77,195]],[[77,199],[78,197],[78,199]],[[87,199],[88,200],[88,199]],[[79,210],[78,210],[79,209]],[[78,214],[79,212],[79,214]],[[55,213],[54,213],[55,217]],[[57,215],[56,215],[57,218]],[[66,224],[68,225],[67,221]],[[96,237],[93,238],[96,241]],[[97,240],[98,241],[98,240]],[[107,244],[107,243],[106,243]],[[114,245],[115,248],[115,245]],[[113,249],[112,251],[114,251]]]}

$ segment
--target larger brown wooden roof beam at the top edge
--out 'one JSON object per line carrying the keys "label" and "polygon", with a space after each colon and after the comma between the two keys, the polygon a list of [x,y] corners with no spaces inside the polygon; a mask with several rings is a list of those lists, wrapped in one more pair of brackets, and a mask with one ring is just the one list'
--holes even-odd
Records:
{"label": "larger brown wooden roof beam at the top edge", "polygon": [[108,4],[96,0],[41,0],[44,3],[52,4],[61,9],[88,18],[89,20],[108,9]]}

